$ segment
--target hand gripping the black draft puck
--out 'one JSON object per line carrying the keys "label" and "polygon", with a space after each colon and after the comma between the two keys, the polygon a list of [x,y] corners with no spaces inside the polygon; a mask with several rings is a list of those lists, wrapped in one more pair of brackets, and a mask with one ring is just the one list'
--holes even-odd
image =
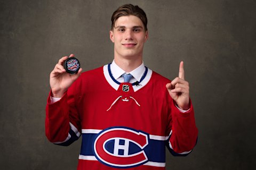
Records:
{"label": "hand gripping the black draft puck", "polygon": [[[70,54],[69,57],[74,57]],[[69,74],[63,67],[63,63],[68,59],[68,56],[60,58],[58,64],[55,65],[50,74],[50,86],[52,89],[52,97],[62,97],[71,84],[81,75],[80,68],[76,74]]]}

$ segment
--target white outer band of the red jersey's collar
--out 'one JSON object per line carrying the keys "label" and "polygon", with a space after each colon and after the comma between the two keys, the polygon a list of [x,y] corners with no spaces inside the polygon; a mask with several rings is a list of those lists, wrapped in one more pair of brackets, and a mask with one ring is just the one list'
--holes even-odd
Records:
{"label": "white outer band of the red jersey's collar", "polygon": [[[117,84],[116,82],[114,82],[114,81],[111,79],[111,77],[110,77],[110,75],[109,75],[109,72],[108,72],[108,64],[103,66],[103,73],[104,73],[104,75],[105,75],[106,80],[107,80],[108,83],[110,84],[110,86],[112,86],[115,90],[118,90],[119,84]],[[139,89],[141,89],[142,87],[144,87],[144,86],[149,82],[152,73],[153,73],[153,71],[150,70],[150,69],[148,69],[148,72],[147,72],[147,75],[146,75],[145,79],[142,80],[142,82],[140,82],[140,84],[141,84],[142,86],[132,86],[134,92],[135,92],[135,91],[138,91]]]}

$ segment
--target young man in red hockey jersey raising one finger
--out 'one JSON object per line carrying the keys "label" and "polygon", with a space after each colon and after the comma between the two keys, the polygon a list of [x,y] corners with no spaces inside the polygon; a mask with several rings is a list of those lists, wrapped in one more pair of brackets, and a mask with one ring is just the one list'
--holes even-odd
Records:
{"label": "young man in red hockey jersey raising one finger", "polygon": [[119,7],[111,21],[111,64],[68,74],[65,56],[51,72],[46,136],[68,146],[82,135],[77,169],[165,169],[165,146],[186,156],[197,140],[183,62],[173,81],[143,64],[147,17],[138,6]]}

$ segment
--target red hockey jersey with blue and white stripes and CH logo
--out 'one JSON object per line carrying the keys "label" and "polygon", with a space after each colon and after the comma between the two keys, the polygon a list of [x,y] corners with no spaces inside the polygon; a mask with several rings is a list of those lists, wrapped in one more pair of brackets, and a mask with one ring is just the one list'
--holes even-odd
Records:
{"label": "red hockey jersey with blue and white stripes and CH logo", "polygon": [[110,64],[84,72],[59,101],[47,99],[46,136],[68,146],[82,135],[77,169],[165,169],[165,146],[186,156],[198,133],[191,101],[181,113],[169,82],[147,67],[133,84],[117,82]]}

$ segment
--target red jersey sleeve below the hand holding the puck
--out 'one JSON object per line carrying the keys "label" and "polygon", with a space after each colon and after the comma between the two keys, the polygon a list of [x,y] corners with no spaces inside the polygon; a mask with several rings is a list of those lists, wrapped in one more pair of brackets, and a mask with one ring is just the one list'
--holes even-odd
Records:
{"label": "red jersey sleeve below the hand holding the puck", "polygon": [[69,146],[81,136],[81,121],[75,106],[75,83],[59,101],[47,98],[45,134],[47,139],[61,146]]}

